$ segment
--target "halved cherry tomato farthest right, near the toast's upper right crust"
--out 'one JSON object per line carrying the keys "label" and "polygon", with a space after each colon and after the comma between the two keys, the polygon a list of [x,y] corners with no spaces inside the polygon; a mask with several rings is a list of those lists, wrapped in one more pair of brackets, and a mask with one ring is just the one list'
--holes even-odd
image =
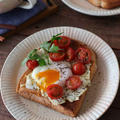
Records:
{"label": "halved cherry tomato farthest right, near the toast's upper right crust", "polygon": [[76,50],[76,57],[80,62],[88,64],[91,61],[91,52],[87,48],[80,47]]}

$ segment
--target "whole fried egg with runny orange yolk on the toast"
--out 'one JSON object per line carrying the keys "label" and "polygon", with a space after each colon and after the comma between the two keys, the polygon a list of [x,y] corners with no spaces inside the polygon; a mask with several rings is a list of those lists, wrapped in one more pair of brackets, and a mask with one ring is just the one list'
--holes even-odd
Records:
{"label": "whole fried egg with runny orange yolk on the toast", "polygon": [[40,90],[46,91],[46,88],[51,84],[64,86],[66,79],[72,76],[70,67],[70,64],[65,61],[53,62],[52,65],[47,66],[38,66],[32,71],[31,77],[27,79],[26,88],[39,87]]}

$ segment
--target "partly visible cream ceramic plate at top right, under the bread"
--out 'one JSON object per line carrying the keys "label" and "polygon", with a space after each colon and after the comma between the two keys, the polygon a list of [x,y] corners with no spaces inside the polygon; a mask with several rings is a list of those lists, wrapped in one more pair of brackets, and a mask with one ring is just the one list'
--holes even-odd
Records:
{"label": "partly visible cream ceramic plate at top right, under the bread", "polygon": [[87,0],[62,0],[67,6],[80,13],[93,16],[111,16],[120,14],[120,7],[114,9],[102,9],[90,4]]}

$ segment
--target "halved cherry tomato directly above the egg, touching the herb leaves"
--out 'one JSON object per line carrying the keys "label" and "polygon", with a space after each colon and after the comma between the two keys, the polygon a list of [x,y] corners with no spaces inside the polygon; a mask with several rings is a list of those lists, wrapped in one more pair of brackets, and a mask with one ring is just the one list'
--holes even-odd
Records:
{"label": "halved cherry tomato directly above the egg, touching the herb leaves", "polygon": [[61,60],[64,60],[65,53],[63,53],[63,52],[49,53],[49,56],[50,56],[51,60],[53,60],[53,61],[61,61]]}

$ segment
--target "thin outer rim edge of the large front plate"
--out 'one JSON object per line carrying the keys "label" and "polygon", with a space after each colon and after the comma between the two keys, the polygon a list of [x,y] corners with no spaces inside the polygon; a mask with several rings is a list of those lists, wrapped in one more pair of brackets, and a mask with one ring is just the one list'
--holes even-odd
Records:
{"label": "thin outer rim edge of the large front plate", "polygon": [[[34,36],[35,34],[41,32],[41,31],[47,31],[47,30],[55,29],[55,28],[57,28],[57,29],[60,29],[60,28],[78,29],[78,30],[82,30],[82,31],[84,31],[84,32],[88,32],[89,34],[92,34],[92,35],[96,36],[97,38],[99,38],[103,43],[105,43],[105,45],[107,45],[107,47],[109,47],[109,49],[112,50],[112,48],[106,43],[106,41],[104,41],[101,37],[99,37],[99,36],[96,35],[95,33],[90,32],[90,31],[88,31],[88,30],[86,30],[86,29],[82,29],[82,28],[79,28],[79,27],[71,27],[71,26],[58,26],[58,27],[45,28],[45,29],[42,29],[42,30],[40,30],[40,31],[38,31],[38,32],[35,32],[35,33],[31,34],[30,36],[26,37],[25,39],[23,39],[23,40],[22,40],[21,42],[19,42],[19,43],[13,48],[13,50],[8,54],[6,60],[5,60],[4,64],[3,64],[1,73],[0,73],[0,76],[1,76],[1,81],[0,81],[1,97],[2,97],[2,100],[3,100],[3,103],[4,103],[5,107],[7,108],[7,110],[9,111],[9,113],[10,113],[15,119],[16,119],[16,117],[13,115],[13,113],[12,113],[12,112],[10,111],[10,109],[8,108],[6,102],[4,101],[4,97],[3,97],[3,91],[2,91],[2,73],[3,73],[3,71],[4,71],[5,64],[7,63],[10,55],[14,52],[14,50],[16,49],[16,47],[19,46],[20,44],[23,44],[23,42],[24,42],[25,40],[27,40],[29,37]],[[109,109],[109,107],[111,106],[111,104],[113,103],[113,101],[114,101],[114,99],[115,99],[115,97],[116,97],[116,95],[117,95],[118,88],[119,88],[119,83],[120,83],[120,68],[119,68],[118,59],[117,59],[117,57],[116,57],[116,55],[115,55],[115,53],[114,53],[113,50],[112,50],[112,53],[113,53],[113,55],[114,55],[114,59],[115,59],[115,61],[116,61],[116,65],[117,65],[117,69],[118,69],[118,81],[117,81],[118,84],[117,84],[117,88],[116,88],[116,91],[115,91],[115,93],[114,93],[114,96],[113,96],[113,98],[111,99],[111,101],[109,102],[109,105],[107,106],[106,109],[104,109],[104,112],[102,112],[102,114],[99,115],[98,118],[100,118],[100,117]],[[98,119],[98,118],[97,118],[97,119]]]}

